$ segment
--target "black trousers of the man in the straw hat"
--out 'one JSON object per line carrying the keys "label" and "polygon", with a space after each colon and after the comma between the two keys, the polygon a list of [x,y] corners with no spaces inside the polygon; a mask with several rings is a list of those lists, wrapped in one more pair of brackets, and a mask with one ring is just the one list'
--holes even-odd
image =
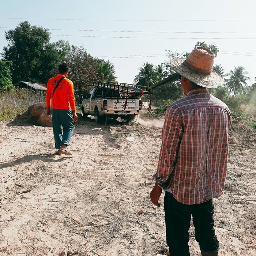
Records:
{"label": "black trousers of the man in the straw hat", "polygon": [[187,205],[165,192],[166,242],[171,256],[189,256],[189,227],[191,215],[195,226],[195,238],[201,254],[217,253],[219,241],[214,230],[214,206],[212,199],[202,204]]}

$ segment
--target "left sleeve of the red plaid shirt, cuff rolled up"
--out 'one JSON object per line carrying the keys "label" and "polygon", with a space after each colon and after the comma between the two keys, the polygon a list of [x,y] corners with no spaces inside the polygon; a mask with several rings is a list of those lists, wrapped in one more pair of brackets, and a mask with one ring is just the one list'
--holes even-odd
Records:
{"label": "left sleeve of the red plaid shirt, cuff rolled up", "polygon": [[171,105],[166,110],[158,168],[153,176],[153,180],[157,181],[162,188],[169,188],[170,175],[176,165],[182,135],[183,128],[179,113]]}

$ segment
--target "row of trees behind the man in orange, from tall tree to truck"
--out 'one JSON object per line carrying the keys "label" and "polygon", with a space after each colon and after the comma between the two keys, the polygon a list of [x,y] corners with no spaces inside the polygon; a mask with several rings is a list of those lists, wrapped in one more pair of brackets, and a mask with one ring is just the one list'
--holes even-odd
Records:
{"label": "row of trees behind the man in orange, from tall tree to truck", "polygon": [[14,30],[5,32],[8,45],[4,47],[4,60],[12,61],[12,80],[47,83],[57,75],[60,63],[67,63],[68,78],[77,94],[88,92],[87,80],[114,81],[114,65],[110,61],[93,58],[84,46],[69,45],[63,40],[50,43],[48,29],[21,22]]}

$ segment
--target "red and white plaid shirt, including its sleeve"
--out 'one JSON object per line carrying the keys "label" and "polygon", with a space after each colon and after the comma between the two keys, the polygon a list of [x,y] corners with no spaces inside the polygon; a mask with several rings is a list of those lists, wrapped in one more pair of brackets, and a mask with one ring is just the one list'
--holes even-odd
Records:
{"label": "red and white plaid shirt, including its sleeve", "polygon": [[166,110],[157,173],[153,179],[178,202],[199,204],[222,195],[227,172],[231,113],[206,89]]}

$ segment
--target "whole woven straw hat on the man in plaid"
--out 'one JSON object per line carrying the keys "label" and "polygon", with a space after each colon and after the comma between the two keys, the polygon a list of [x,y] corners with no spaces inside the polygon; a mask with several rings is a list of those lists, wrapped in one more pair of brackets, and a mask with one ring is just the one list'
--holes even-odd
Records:
{"label": "whole woven straw hat on the man in plaid", "polygon": [[213,68],[214,57],[209,49],[196,46],[187,59],[173,59],[170,65],[178,74],[200,86],[217,88],[223,86],[224,78]]}

